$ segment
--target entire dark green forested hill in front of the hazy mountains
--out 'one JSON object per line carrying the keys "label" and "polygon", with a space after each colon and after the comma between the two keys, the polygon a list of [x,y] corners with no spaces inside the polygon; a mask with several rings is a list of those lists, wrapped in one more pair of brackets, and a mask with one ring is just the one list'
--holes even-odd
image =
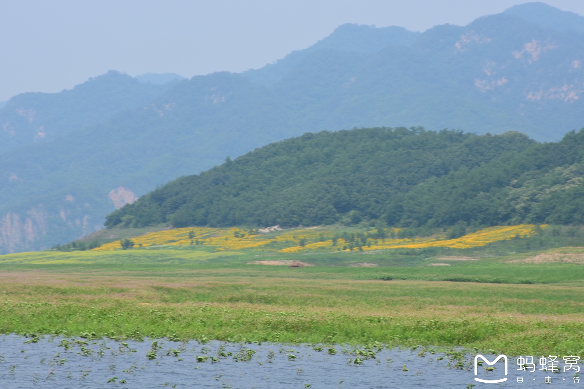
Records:
{"label": "entire dark green forested hill in front of the hazy mountains", "polygon": [[561,142],[363,128],[272,143],[178,178],[107,216],[143,227],[584,222],[584,129]]}

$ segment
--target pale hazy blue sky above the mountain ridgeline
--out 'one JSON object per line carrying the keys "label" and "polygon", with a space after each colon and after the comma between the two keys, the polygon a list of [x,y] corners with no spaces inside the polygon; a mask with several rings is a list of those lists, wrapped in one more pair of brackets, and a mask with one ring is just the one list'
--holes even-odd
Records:
{"label": "pale hazy blue sky above the mountain ridgeline", "polygon": [[[0,0],[0,101],[129,75],[241,72],[309,47],[343,23],[464,26],[514,0]],[[547,0],[584,15],[584,0]]]}

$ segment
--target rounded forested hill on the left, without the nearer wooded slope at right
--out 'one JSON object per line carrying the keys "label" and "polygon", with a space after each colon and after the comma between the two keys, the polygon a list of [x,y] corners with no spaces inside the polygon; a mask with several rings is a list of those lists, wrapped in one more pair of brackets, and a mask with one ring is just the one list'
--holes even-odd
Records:
{"label": "rounded forested hill on the left, without the nearer wooded slope at right", "polygon": [[534,144],[513,132],[370,128],[305,134],[178,178],[107,216],[106,225],[320,225],[347,213],[389,218],[395,216],[386,215],[394,197]]}

